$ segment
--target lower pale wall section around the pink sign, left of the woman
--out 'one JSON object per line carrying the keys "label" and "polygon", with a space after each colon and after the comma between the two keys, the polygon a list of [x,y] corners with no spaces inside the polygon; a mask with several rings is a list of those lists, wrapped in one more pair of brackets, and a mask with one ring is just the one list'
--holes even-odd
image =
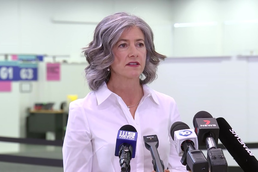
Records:
{"label": "lower pale wall section around the pink sign, left of the woman", "polygon": [[55,102],[54,109],[60,109],[67,95],[78,95],[84,98],[89,93],[89,87],[85,81],[84,68],[86,63],[61,64],[60,81],[46,80],[46,63],[39,65],[39,101]]}

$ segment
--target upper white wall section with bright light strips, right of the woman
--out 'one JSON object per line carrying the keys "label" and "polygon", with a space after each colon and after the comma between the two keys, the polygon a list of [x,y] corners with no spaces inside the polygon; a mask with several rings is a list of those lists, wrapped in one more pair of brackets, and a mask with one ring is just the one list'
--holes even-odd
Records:
{"label": "upper white wall section with bright light strips, right of the woman", "polygon": [[256,24],[225,21],[258,19],[256,0],[173,1],[173,23],[217,22],[215,26],[174,28],[174,56],[251,55],[258,53]]}

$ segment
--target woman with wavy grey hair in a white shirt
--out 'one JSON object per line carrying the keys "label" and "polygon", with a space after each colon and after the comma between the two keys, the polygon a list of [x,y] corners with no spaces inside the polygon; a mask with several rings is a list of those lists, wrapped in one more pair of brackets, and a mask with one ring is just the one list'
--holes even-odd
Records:
{"label": "woman with wavy grey hair in a white shirt", "polygon": [[105,17],[84,48],[89,65],[86,79],[92,90],[70,103],[63,143],[65,172],[120,172],[115,156],[118,130],[132,125],[138,133],[131,172],[151,172],[151,153],[143,136],[157,135],[158,151],[166,172],[186,171],[180,163],[170,127],[180,121],[173,98],[146,84],[156,77],[166,56],[155,51],[153,32],[146,22],[127,13]]}

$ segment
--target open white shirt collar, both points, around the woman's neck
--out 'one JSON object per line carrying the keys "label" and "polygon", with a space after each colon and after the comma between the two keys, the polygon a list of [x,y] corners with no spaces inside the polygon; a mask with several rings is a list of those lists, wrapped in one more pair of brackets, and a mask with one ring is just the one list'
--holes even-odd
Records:
{"label": "open white shirt collar, both points, around the woman's neck", "polygon": [[[152,99],[154,100],[155,103],[157,103],[158,105],[160,104],[159,101],[158,101],[157,95],[156,95],[156,93],[153,89],[151,89],[146,84],[144,84],[142,86],[142,88],[143,88],[143,92],[144,92],[144,97],[145,96],[146,97],[152,97]],[[95,95],[96,95],[96,98],[97,98],[98,105],[103,103],[111,94],[116,95],[115,93],[111,92],[107,88],[106,82],[103,82],[102,85],[99,87],[99,89],[97,91],[95,91]]]}

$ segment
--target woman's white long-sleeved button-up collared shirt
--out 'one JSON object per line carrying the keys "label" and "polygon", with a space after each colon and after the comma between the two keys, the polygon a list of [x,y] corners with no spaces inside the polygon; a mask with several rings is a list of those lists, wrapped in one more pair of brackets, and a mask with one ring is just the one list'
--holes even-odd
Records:
{"label": "woman's white long-sleeved button-up collared shirt", "polygon": [[138,133],[131,172],[153,171],[151,153],[143,141],[143,136],[148,135],[157,135],[157,149],[165,169],[186,171],[170,135],[171,125],[180,121],[174,99],[147,85],[143,85],[143,91],[134,119],[122,98],[111,92],[106,83],[70,103],[63,142],[64,172],[120,172],[119,157],[115,156],[116,137],[118,130],[127,124]]}

